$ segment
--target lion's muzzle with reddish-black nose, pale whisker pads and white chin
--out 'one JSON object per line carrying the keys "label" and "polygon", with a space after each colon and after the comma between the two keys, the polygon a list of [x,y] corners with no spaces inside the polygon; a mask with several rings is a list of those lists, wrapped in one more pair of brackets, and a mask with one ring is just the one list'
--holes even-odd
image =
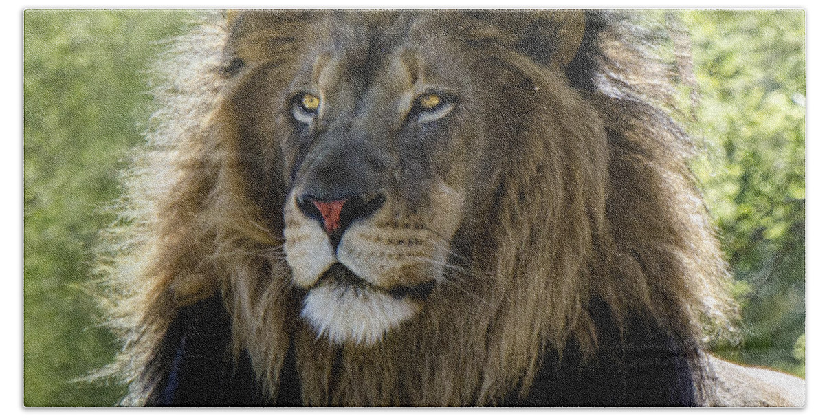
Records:
{"label": "lion's muzzle with reddish-black nose, pale whisker pads and white chin", "polygon": [[384,195],[298,194],[284,209],[284,249],[293,284],[307,291],[301,317],[318,336],[373,344],[420,311],[434,280],[411,282],[403,270],[414,257],[377,240],[375,223],[388,216]]}

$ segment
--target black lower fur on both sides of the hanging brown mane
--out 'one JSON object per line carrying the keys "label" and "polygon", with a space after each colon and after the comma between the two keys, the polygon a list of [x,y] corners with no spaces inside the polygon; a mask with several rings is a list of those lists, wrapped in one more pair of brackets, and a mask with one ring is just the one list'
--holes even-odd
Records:
{"label": "black lower fur on both sides of the hanging brown mane", "polygon": [[[542,359],[526,395],[508,393],[498,406],[698,406],[691,357],[642,318],[620,332],[605,303],[592,303],[598,352],[585,361],[575,341],[564,357]],[[231,329],[220,298],[181,310],[156,361],[171,364],[148,406],[301,406],[295,347],[287,353],[274,402],[256,382],[247,352],[230,362]],[[334,373],[334,372],[333,372]]]}

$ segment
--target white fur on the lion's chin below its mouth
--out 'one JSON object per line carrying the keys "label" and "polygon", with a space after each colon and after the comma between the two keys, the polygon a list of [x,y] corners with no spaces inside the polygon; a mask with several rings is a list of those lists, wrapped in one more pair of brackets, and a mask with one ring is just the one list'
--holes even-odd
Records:
{"label": "white fur on the lion's chin below its mouth", "polygon": [[304,298],[301,317],[333,344],[372,345],[417,312],[415,303],[380,290],[321,285]]}

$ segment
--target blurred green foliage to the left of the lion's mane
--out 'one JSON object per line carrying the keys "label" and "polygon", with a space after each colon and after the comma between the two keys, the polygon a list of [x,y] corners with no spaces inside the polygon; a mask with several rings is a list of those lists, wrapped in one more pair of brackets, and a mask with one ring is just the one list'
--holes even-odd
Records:
{"label": "blurred green foliage to the left of the lion's mane", "polygon": [[141,139],[144,73],[181,31],[182,12],[26,11],[24,15],[24,402],[114,405],[121,387],[73,381],[106,364],[113,336],[83,291],[101,208]]}

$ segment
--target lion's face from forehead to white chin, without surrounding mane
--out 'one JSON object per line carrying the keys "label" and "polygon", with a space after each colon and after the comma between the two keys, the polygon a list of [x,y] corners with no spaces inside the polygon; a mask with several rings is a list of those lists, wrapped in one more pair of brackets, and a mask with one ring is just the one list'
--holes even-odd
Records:
{"label": "lion's face from forehead to white chin, without surrounding mane", "polygon": [[368,48],[308,57],[282,148],[295,156],[284,249],[308,290],[302,316],[332,341],[370,344],[444,279],[477,131],[462,118],[460,74],[403,43]]}

